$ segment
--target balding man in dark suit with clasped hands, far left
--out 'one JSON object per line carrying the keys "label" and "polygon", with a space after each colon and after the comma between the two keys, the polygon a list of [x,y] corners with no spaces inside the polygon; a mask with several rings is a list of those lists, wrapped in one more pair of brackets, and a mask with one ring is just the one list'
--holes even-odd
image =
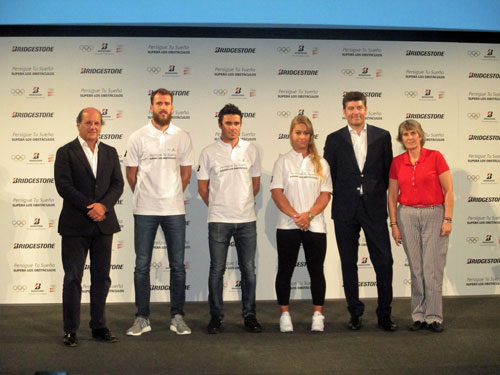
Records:
{"label": "balding man in dark suit with clasped hands, far left", "polygon": [[78,137],[57,150],[54,177],[64,199],[58,231],[62,236],[63,342],[76,346],[80,326],[82,277],[90,250],[90,328],[92,337],[116,342],[106,327],[105,305],[111,279],[113,233],[120,231],[114,205],[123,192],[116,150],[99,141],[102,117],[95,108],[76,119]]}

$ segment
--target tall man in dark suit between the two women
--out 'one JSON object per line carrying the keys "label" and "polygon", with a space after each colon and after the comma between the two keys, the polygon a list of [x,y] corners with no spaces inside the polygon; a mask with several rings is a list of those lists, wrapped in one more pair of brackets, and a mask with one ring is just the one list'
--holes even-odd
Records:
{"label": "tall man in dark suit between the two women", "polygon": [[386,331],[395,331],[397,325],[391,319],[393,260],[387,227],[391,136],[386,130],[366,124],[363,93],[346,93],[342,105],[348,126],[327,137],[324,157],[332,175],[332,218],[351,314],[349,328],[360,329],[364,313],[357,267],[359,233],[363,228],[377,276],[378,324]]}

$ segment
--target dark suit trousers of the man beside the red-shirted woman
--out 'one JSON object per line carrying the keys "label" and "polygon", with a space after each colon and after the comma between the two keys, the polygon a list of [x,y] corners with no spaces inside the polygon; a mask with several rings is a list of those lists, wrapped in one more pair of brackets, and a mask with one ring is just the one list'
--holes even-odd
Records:
{"label": "dark suit trousers of the man beside the red-shirted woman", "polygon": [[358,245],[359,232],[363,228],[370,259],[377,277],[377,316],[391,315],[392,303],[392,253],[387,220],[372,219],[364,204],[358,204],[356,214],[349,221],[334,220],[335,236],[342,263],[342,278],[347,309],[351,315],[361,316],[365,305],[359,300]]}

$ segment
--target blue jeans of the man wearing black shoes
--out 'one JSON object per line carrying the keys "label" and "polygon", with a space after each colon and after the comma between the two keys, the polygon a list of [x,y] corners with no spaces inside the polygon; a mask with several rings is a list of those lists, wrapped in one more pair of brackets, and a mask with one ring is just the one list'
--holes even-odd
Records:
{"label": "blue jeans of the man wearing black shoes", "polygon": [[210,274],[208,276],[208,302],[210,315],[224,317],[222,289],[226,270],[227,251],[231,237],[234,238],[241,272],[241,302],[243,316],[255,315],[255,251],[257,228],[255,221],[249,223],[208,223],[210,248]]}

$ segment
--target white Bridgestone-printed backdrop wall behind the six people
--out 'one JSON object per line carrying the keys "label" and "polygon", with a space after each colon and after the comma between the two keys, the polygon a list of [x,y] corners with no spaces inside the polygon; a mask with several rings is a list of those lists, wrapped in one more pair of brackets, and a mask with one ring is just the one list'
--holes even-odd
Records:
{"label": "white Bridgestone-printed backdrop wall behind the six people", "polygon": [[[81,108],[102,111],[102,138],[125,151],[128,136],[149,117],[149,93],[174,92],[174,123],[190,132],[196,157],[219,137],[217,111],[228,102],[244,112],[242,138],[263,160],[257,197],[257,298],[275,299],[277,209],[269,185],[274,161],[289,148],[290,120],[312,118],[322,150],[326,136],[345,126],[342,96],[368,96],[368,122],[396,137],[405,118],[417,118],[426,147],[446,157],[455,185],[455,214],[445,295],[500,292],[500,44],[265,40],[211,38],[0,38],[2,109],[0,167],[3,211],[0,303],[60,302],[63,270],[57,220],[62,200],[53,181],[56,150],[77,135]],[[283,136],[285,135],[285,136]],[[402,152],[393,141],[394,154]],[[196,170],[194,166],[193,171]],[[134,300],[132,194],[117,205],[108,301]],[[196,175],[187,199],[187,299],[207,299],[207,209]],[[340,261],[327,208],[327,298],[343,298]],[[376,296],[375,274],[363,236],[359,279],[363,297]],[[158,234],[151,267],[152,300],[168,301],[169,267]],[[408,296],[409,269],[393,246],[394,296]],[[230,251],[224,298],[240,298],[236,252]],[[292,298],[310,298],[303,255]],[[90,281],[84,278],[84,301]]]}

